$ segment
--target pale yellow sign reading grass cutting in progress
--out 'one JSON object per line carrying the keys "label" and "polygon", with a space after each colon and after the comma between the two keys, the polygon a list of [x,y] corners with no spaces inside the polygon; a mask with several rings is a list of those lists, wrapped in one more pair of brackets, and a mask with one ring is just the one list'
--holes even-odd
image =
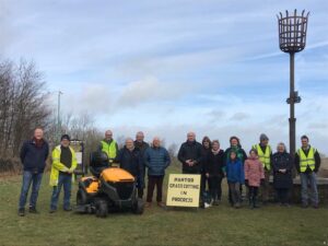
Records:
{"label": "pale yellow sign reading grass cutting in progress", "polygon": [[200,175],[169,174],[166,206],[199,207]]}

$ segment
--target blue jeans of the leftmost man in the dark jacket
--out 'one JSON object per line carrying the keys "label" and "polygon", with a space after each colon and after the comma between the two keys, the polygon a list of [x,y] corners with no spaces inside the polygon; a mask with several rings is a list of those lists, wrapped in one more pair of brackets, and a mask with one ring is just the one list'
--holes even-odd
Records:
{"label": "blue jeans of the leftmost man in the dark jacket", "polygon": [[42,179],[43,179],[43,173],[35,174],[30,171],[24,171],[23,184],[22,184],[21,196],[20,196],[20,204],[19,204],[20,209],[25,208],[31,184],[32,184],[32,194],[30,197],[30,207],[33,207],[33,208],[36,207],[36,200],[37,200]]}

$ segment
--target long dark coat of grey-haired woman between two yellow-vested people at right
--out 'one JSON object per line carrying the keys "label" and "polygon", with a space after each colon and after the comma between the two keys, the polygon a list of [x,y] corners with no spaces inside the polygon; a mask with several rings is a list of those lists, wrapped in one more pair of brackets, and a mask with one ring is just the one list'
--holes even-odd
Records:
{"label": "long dark coat of grey-haired woman between two yellow-vested people at right", "polygon": [[[277,152],[272,155],[271,165],[273,169],[273,186],[274,188],[291,188],[293,185],[292,156],[286,153]],[[286,173],[280,173],[279,169],[286,169]]]}

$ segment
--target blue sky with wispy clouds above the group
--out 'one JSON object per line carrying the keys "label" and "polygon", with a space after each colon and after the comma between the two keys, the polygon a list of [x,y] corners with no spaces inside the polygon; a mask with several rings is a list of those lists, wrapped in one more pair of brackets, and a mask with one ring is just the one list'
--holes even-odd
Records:
{"label": "blue sky with wispy clouds above the group", "polygon": [[[2,58],[32,59],[63,114],[89,113],[114,134],[180,143],[194,130],[236,134],[245,149],[266,132],[288,143],[289,56],[276,14],[311,11],[296,54],[297,145],[328,153],[328,1],[0,0]],[[56,93],[52,93],[56,106]]]}

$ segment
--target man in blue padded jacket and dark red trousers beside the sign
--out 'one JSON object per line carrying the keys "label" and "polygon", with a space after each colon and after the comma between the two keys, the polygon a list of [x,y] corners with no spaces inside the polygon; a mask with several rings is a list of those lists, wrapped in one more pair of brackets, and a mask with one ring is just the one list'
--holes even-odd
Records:
{"label": "man in blue padded jacket and dark red trousers beside the sign", "polygon": [[157,206],[163,208],[162,191],[165,169],[169,165],[171,159],[165,148],[161,147],[160,138],[153,139],[153,144],[144,152],[144,164],[148,167],[148,190],[145,207],[150,208],[153,199],[154,188],[157,188]]}

